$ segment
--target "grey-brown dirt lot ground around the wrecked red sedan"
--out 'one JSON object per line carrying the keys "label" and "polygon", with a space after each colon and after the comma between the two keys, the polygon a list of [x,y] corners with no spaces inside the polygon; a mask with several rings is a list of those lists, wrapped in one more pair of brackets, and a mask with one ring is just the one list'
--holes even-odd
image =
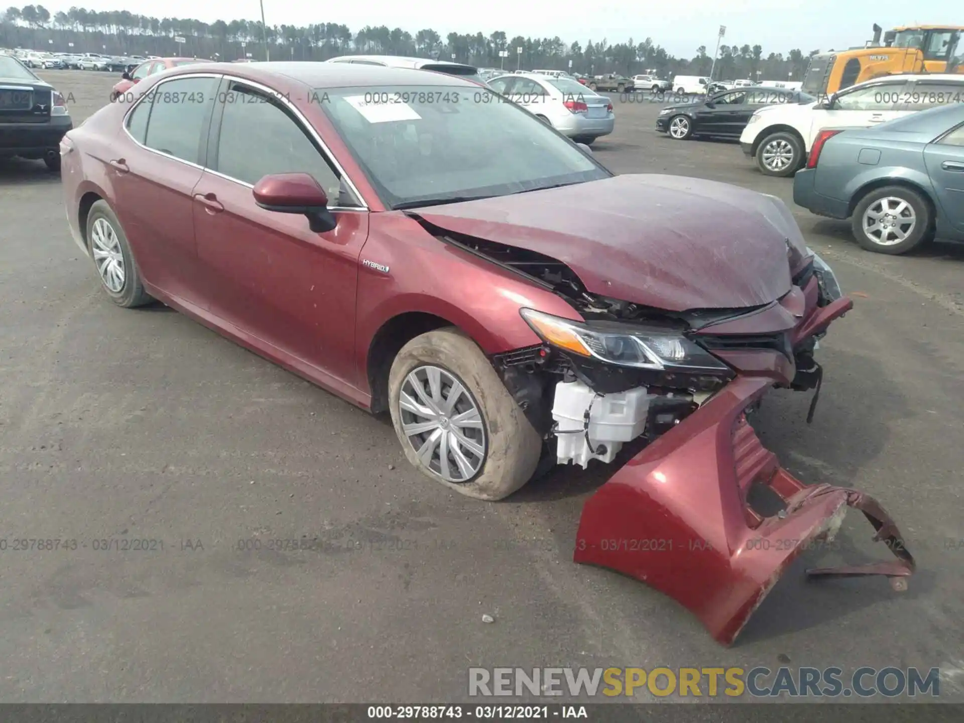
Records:
{"label": "grey-brown dirt lot ground around the wrecked red sedan", "polygon": [[[75,123],[116,81],[42,75]],[[919,562],[909,591],[806,583],[808,553],[719,648],[674,601],[571,561],[582,504],[611,468],[560,468],[496,504],[450,494],[409,468],[386,419],[170,309],[111,304],[70,240],[57,177],[12,161],[0,165],[0,539],[86,547],[0,551],[0,700],[442,702],[468,699],[470,666],[781,664],[940,666],[942,699],[964,700],[964,247],[868,254],[845,223],[793,207],[790,179],[764,178],[736,144],[669,140],[656,103],[614,99],[604,164],[779,196],[854,295],[822,345],[815,423],[808,394],[771,393],[763,442],[803,479],[883,502]],[[887,554],[870,532],[860,516],[844,523],[855,561]],[[238,549],[316,537],[333,544]],[[164,549],[94,549],[123,539]]]}

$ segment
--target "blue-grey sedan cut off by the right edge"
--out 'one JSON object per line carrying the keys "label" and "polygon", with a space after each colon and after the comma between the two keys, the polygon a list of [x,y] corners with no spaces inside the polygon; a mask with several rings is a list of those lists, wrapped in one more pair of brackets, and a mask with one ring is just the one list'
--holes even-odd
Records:
{"label": "blue-grey sedan cut off by the right edge", "polygon": [[824,128],[793,201],[851,219],[868,251],[905,254],[931,236],[964,241],[964,103],[873,128]]}

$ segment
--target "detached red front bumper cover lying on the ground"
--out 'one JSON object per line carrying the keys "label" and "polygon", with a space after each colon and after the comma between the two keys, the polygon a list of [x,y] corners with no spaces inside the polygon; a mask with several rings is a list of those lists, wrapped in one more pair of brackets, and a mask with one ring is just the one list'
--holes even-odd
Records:
{"label": "detached red front bumper cover lying on the ground", "polygon": [[[804,485],[765,449],[744,411],[772,380],[738,377],[617,471],[586,503],[578,563],[612,568],[683,603],[730,645],[790,563],[830,541],[848,508],[873,525],[896,561],[808,570],[809,576],[883,575],[905,590],[914,559],[897,525],[863,493]],[[754,484],[786,507],[762,517],[747,502]]]}

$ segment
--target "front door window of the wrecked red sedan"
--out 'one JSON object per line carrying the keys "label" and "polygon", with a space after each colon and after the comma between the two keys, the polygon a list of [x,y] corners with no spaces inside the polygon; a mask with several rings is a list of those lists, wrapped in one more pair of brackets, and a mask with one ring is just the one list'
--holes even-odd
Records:
{"label": "front door window of the wrecked red sedan", "polygon": [[225,94],[216,166],[219,174],[251,185],[270,174],[310,174],[333,205],[358,205],[339,198],[337,174],[281,102],[240,83]]}

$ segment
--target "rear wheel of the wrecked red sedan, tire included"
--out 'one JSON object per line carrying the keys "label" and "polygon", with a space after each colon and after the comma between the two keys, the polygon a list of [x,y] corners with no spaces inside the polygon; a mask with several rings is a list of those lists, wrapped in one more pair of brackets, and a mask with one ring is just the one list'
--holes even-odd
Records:
{"label": "rear wheel of the wrecked red sedan, tire included", "polygon": [[119,307],[142,307],[152,299],[144,284],[127,236],[107,201],[95,201],[87,216],[87,244],[104,291]]}

